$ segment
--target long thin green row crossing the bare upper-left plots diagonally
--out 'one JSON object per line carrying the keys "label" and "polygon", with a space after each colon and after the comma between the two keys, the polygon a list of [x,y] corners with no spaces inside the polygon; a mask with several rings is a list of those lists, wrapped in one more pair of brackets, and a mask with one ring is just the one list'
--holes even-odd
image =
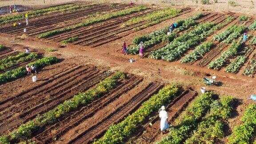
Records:
{"label": "long thin green row crossing the bare upper-left plots diagonally", "polygon": [[76,28],[81,28],[81,27],[84,27],[84,26],[87,26],[87,25],[90,25],[90,24],[95,24],[97,22],[101,22],[101,21],[104,21],[104,20],[109,20],[109,19],[119,17],[119,16],[125,16],[125,15],[128,15],[128,14],[132,14],[134,12],[140,12],[140,11],[143,11],[143,10],[146,10],[146,9],[148,9],[148,7],[137,6],[137,7],[133,7],[133,8],[127,8],[127,9],[124,9],[124,10],[112,12],[112,13],[106,13],[106,14],[103,14],[101,16],[93,17],[89,20],[86,20],[85,22],[81,22],[79,24],[73,25],[71,27],[52,30],[50,32],[44,32],[44,33],[42,33],[42,34],[40,34],[36,37],[37,38],[47,38],[47,37],[50,37],[50,36],[53,36],[53,35],[56,35],[56,34],[60,34],[60,33],[63,33],[63,32],[72,31]]}

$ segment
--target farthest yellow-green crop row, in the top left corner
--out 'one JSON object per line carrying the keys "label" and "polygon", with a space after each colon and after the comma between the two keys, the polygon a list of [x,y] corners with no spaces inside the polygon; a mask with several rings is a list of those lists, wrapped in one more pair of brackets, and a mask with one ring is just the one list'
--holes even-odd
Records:
{"label": "farthest yellow-green crop row, in the top left corner", "polygon": [[[43,8],[39,10],[35,10],[32,12],[27,12],[29,17],[35,17],[35,16],[40,16],[43,13],[50,14],[50,13],[56,13],[56,12],[64,12],[64,11],[70,11],[72,9],[77,9],[80,8],[80,5],[76,4],[66,4],[66,5],[61,5],[61,6],[56,6],[56,7],[51,7],[51,8]],[[82,7],[87,7],[87,5],[82,5]],[[19,21],[24,19],[24,13],[22,14],[15,14],[11,16],[4,16],[0,18],[0,24],[7,24],[13,21]]]}

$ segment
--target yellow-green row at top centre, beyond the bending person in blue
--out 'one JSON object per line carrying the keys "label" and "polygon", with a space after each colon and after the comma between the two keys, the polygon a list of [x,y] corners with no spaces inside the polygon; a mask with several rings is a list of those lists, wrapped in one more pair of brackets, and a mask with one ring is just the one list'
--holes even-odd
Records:
{"label": "yellow-green row at top centre, beyond the bending person in blue", "polygon": [[125,22],[124,24],[122,24],[121,27],[131,26],[132,24],[137,24],[142,21],[152,22],[152,21],[156,21],[161,18],[164,18],[164,17],[177,16],[180,12],[181,12],[181,10],[176,9],[176,8],[160,9],[155,12],[148,13],[147,15],[144,15],[144,16],[132,18],[132,19],[128,20],[127,22]]}

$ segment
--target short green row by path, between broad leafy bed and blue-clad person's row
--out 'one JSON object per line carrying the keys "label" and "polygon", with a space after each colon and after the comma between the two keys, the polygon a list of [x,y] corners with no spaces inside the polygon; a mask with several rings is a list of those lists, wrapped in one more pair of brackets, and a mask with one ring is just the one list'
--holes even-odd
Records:
{"label": "short green row by path, between broad leafy bed and blue-clad person's row", "polygon": [[213,42],[205,42],[200,44],[190,54],[186,55],[180,62],[186,64],[192,63],[204,56],[204,54],[213,48],[213,46]]}

